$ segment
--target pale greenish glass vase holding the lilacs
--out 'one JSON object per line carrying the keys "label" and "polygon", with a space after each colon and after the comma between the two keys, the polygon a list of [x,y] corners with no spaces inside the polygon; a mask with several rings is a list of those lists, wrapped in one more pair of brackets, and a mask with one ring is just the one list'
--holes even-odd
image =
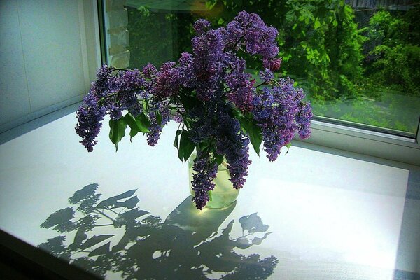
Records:
{"label": "pale greenish glass vase holding the lilacs", "polygon": [[[190,159],[188,160],[188,173],[189,173],[189,187],[191,195],[194,194],[193,186],[191,181],[193,181],[193,174],[197,173],[193,170],[194,160],[197,157],[196,153],[191,155]],[[237,200],[239,195],[239,190],[233,188],[232,182],[230,179],[230,173],[227,168],[226,162],[222,162],[221,165],[218,166],[218,171],[216,174],[216,178],[213,180],[214,182],[214,190],[209,192],[209,202],[206,204],[206,208],[218,209],[230,206],[230,204],[234,203]]]}

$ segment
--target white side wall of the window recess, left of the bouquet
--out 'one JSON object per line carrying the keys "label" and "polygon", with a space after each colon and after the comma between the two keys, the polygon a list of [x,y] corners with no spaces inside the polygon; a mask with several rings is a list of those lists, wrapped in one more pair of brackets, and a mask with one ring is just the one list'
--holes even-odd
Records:
{"label": "white side wall of the window recess, left of the bouquet", "polygon": [[96,1],[0,0],[0,132],[82,99],[100,64],[95,19]]}

